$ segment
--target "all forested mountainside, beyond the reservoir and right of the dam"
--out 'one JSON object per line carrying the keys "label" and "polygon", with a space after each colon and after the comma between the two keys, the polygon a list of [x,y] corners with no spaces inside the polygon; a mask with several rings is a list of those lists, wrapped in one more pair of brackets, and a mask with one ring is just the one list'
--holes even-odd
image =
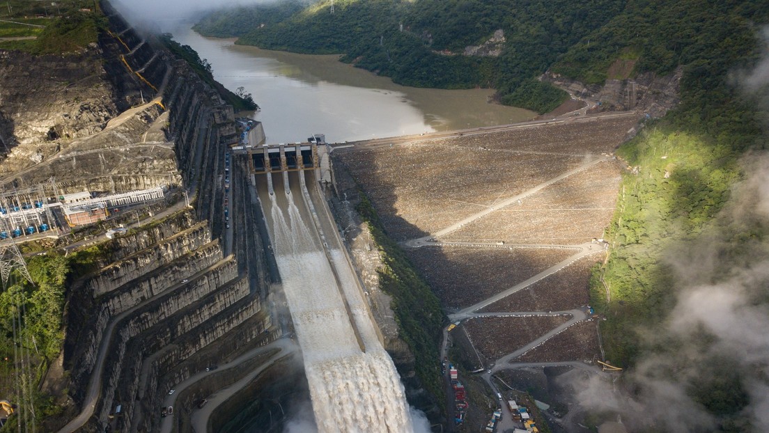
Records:
{"label": "all forested mountainside, beyond the reservoir and right of the dam", "polygon": [[[756,274],[769,263],[766,199],[755,189],[766,177],[755,179],[767,165],[758,155],[767,147],[769,78],[751,74],[769,52],[769,3],[338,0],[333,15],[329,5],[283,21],[241,14],[251,30],[239,43],[342,53],[405,85],[492,87],[501,102],[539,112],[565,95],[536,79],[546,71],[601,85],[624,78],[611,75],[618,60],[631,78],[680,68],[680,105],[618,149],[629,167],[591,298],[606,319],[606,357],[628,368],[631,394],[657,406],[677,398],[667,411],[696,415],[668,431],[767,431],[756,414],[769,389],[769,345],[755,325],[769,316],[769,282]],[[234,35],[226,13],[198,31]],[[496,29],[501,55],[460,55]]]}

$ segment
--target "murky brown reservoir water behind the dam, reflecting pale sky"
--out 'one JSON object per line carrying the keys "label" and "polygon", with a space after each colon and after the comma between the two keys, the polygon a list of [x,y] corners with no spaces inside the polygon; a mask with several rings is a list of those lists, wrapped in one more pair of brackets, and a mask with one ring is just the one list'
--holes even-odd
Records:
{"label": "murky brown reservoir water behind the dam, reflecting pale sky", "polygon": [[214,78],[254,96],[268,143],[305,141],[315,133],[328,142],[393,137],[533,118],[522,108],[488,102],[490,89],[440,90],[395,85],[338,62],[337,55],[298,55],[205,38],[190,25],[168,28],[211,64]]}

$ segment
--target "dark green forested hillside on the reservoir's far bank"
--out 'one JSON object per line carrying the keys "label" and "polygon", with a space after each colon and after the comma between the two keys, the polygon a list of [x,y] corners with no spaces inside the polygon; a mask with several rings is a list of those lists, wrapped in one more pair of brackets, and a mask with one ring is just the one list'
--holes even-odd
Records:
{"label": "dark green forested hillside on the reservoir's far bank", "polygon": [[[623,4],[620,0],[590,4],[566,0],[338,0],[334,14],[330,2],[308,6],[288,18],[284,17],[291,8],[286,6],[215,12],[195,30],[238,37],[240,44],[262,48],[344,54],[343,62],[402,85],[493,87],[504,104],[548,112],[568,95],[538,82],[538,75],[584,34],[621,12]],[[278,12],[276,8],[282,9]],[[497,29],[504,30],[506,38],[501,56],[461,55],[466,46],[481,45]]]}

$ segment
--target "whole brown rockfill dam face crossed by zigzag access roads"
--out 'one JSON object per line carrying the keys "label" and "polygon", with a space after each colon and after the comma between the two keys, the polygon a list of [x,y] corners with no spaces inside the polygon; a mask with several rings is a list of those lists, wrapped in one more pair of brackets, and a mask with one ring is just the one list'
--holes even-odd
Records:
{"label": "whole brown rockfill dam face crossed by zigzag access roads", "polygon": [[[601,238],[623,170],[614,148],[637,122],[634,113],[613,113],[359,142],[333,153],[440,298],[454,324],[444,329],[441,359],[463,368],[461,383],[487,385],[499,401],[498,431],[523,425],[501,404],[498,393],[510,390],[495,377],[557,366],[559,374],[601,372],[588,281],[605,258]],[[463,410],[450,431],[478,431],[496,416],[478,395],[469,393],[468,405],[482,405],[481,413]],[[559,409],[543,411],[554,431],[579,431],[570,421],[577,409]],[[564,410],[571,413],[561,419]]]}

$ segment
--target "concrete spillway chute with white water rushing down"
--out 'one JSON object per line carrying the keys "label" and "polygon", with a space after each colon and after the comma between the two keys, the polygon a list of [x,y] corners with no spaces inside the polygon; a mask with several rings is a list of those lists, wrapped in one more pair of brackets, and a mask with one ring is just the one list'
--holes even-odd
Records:
{"label": "concrete spillway chute with white water rushing down", "polygon": [[[283,175],[289,176],[289,190]],[[280,176],[272,179],[274,194],[266,176]],[[413,431],[400,378],[382,348],[314,174],[257,179],[318,431]]]}

